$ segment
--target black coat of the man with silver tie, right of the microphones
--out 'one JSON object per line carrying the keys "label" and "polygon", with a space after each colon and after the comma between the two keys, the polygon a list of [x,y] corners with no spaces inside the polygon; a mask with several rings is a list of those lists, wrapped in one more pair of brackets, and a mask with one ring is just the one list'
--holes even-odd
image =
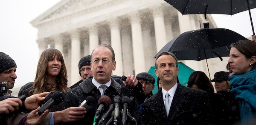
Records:
{"label": "black coat of the man with silver tie, right of the microphones", "polygon": [[212,125],[209,107],[205,91],[186,88],[178,83],[168,116],[160,88],[144,102],[142,118],[145,125]]}

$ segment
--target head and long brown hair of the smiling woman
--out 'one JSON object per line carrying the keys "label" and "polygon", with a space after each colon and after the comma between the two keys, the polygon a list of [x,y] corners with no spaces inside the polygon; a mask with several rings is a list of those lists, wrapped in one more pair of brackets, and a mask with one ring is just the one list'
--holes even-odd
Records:
{"label": "head and long brown hair of the smiling woman", "polygon": [[66,93],[67,69],[63,56],[58,49],[48,48],[41,54],[33,83],[33,94],[44,91],[61,91]]}

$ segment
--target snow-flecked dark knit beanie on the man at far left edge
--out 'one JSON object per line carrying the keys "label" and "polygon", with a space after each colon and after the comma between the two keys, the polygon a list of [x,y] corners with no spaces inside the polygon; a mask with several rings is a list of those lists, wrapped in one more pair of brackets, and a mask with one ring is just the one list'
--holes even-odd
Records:
{"label": "snow-flecked dark knit beanie on the man at far left edge", "polygon": [[15,61],[9,55],[0,52],[0,73],[12,67],[17,68]]}

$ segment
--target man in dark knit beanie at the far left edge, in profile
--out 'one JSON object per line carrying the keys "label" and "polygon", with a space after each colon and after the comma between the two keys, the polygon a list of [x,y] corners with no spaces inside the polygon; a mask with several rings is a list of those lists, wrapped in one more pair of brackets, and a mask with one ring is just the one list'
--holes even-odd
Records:
{"label": "man in dark knit beanie at the far left edge, in profile", "polygon": [[0,52],[0,82],[7,82],[7,94],[11,94],[9,89],[13,88],[15,79],[17,78],[16,72],[17,65],[9,55]]}

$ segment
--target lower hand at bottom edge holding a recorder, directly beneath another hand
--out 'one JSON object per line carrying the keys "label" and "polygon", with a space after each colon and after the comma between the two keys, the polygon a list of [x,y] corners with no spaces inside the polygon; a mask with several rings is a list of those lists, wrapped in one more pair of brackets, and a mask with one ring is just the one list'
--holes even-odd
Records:
{"label": "lower hand at bottom edge holding a recorder, directly beneath another hand", "polygon": [[43,114],[39,116],[38,110],[40,107],[37,109],[31,111],[28,116],[26,117],[25,125],[38,125],[39,123],[42,122],[42,120],[47,116],[49,113],[49,110],[44,111]]}

